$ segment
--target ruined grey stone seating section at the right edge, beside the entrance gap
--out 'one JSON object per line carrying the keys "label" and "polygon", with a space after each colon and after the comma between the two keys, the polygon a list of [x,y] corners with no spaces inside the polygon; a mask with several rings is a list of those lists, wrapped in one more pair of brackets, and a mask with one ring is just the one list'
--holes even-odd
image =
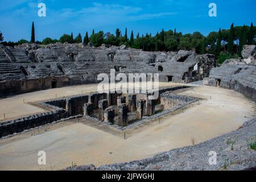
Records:
{"label": "ruined grey stone seating section at the right edge, beside the entrance gap", "polygon": [[256,46],[244,46],[243,58],[226,60],[221,67],[213,68],[205,85],[233,89],[256,100]]}

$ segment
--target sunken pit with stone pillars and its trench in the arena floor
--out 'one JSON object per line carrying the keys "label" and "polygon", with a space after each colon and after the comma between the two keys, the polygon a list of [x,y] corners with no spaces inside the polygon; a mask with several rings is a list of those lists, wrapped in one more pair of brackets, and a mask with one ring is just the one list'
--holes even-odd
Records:
{"label": "sunken pit with stone pillars and its trench in the arena floor", "polygon": [[110,126],[126,127],[145,118],[152,119],[155,113],[161,114],[164,110],[171,112],[197,100],[173,93],[180,89],[189,88],[186,86],[162,88],[159,90],[159,97],[154,100],[150,97],[152,92],[138,94],[115,92],[91,93],[44,101],[41,104],[52,111],[0,123],[0,138],[61,121],[61,119],[82,117],[82,115],[91,121],[98,119]]}

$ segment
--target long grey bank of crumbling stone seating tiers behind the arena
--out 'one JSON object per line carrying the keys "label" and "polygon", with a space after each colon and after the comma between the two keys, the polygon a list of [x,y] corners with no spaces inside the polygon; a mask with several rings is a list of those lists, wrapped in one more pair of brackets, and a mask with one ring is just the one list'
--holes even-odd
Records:
{"label": "long grey bank of crumbling stone seating tiers behind the arena", "polygon": [[[0,97],[67,85],[98,82],[100,73],[159,73],[159,81],[192,82],[209,76],[213,55],[192,51],[146,52],[84,44],[0,44]],[[150,77],[147,78],[150,80]]]}

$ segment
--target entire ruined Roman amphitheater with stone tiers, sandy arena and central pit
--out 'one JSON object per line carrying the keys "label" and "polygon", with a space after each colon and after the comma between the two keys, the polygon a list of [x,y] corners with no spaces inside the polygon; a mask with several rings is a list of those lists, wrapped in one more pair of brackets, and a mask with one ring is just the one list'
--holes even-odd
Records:
{"label": "entire ruined Roman amphitheater with stone tiers, sandy arena and central pit", "polygon": [[[193,51],[0,44],[0,170],[255,167],[256,47],[242,56],[217,65]],[[159,96],[141,82],[136,93],[97,92],[98,75],[112,69],[158,73]]]}

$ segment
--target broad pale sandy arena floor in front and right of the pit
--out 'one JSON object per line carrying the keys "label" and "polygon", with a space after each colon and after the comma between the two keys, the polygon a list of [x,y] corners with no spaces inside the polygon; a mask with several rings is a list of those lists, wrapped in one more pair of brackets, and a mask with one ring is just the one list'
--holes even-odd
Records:
{"label": "broad pale sandy arena floor in front and right of the pit", "polygon": [[[62,89],[69,90],[71,94],[81,90],[79,86]],[[29,98],[36,100],[44,92],[55,94],[53,90],[44,90],[23,96],[28,98],[31,95]],[[56,170],[71,166],[72,162],[100,166],[147,158],[172,148],[189,146],[192,138],[195,143],[200,143],[229,133],[256,113],[255,103],[233,90],[204,86],[180,94],[204,100],[184,112],[164,116],[161,123],[152,122],[130,131],[127,139],[120,131],[92,127],[86,122],[59,123],[59,127],[35,136],[30,133],[2,139],[0,170]],[[45,166],[38,165],[38,152],[42,150],[47,155]]]}

